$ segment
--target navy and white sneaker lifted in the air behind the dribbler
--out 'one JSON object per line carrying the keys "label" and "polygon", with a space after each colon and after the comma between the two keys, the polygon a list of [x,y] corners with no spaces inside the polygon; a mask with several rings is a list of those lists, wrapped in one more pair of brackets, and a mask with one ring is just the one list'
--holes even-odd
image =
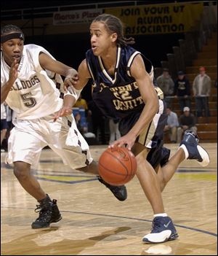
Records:
{"label": "navy and white sneaker lifted in the air behind the dribbler", "polygon": [[209,154],[198,145],[198,142],[198,136],[193,131],[187,130],[179,146],[185,152],[185,159],[195,159],[201,166],[208,166],[210,162]]}

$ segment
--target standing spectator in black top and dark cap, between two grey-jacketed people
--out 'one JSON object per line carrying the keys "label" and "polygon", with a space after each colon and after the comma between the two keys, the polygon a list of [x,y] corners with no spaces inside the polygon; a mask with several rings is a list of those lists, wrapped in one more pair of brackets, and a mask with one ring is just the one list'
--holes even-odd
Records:
{"label": "standing spectator in black top and dark cap, between two grey-jacketed people", "polygon": [[182,112],[185,106],[190,108],[190,83],[183,71],[179,71],[177,74],[178,78],[174,85],[174,96],[178,97],[179,107]]}

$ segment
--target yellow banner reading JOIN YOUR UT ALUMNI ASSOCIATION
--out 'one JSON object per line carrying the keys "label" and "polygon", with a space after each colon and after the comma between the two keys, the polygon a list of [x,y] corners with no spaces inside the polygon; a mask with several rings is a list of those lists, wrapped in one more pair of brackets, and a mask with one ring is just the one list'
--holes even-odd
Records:
{"label": "yellow banner reading JOIN YOUR UT ALUMNI ASSOCIATION", "polygon": [[107,8],[125,25],[126,35],[183,33],[201,19],[203,2],[198,4],[153,4],[139,7]]}

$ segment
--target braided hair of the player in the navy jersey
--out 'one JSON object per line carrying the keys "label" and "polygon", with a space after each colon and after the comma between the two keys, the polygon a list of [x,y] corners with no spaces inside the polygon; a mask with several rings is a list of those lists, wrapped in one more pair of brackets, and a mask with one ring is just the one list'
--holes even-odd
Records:
{"label": "braided hair of the player in the navy jersey", "polygon": [[97,21],[104,23],[105,28],[108,30],[109,33],[117,34],[117,43],[121,44],[121,46],[126,46],[127,44],[135,43],[133,37],[124,37],[123,24],[120,19],[116,18],[116,16],[104,13],[102,15],[97,16],[92,21],[92,23]]}

